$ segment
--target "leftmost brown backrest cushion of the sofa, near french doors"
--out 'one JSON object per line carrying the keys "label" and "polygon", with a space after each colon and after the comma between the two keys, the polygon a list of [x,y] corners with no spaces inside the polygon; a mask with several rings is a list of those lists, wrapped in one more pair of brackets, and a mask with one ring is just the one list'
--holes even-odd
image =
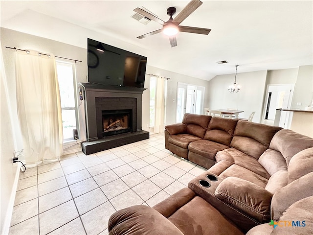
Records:
{"label": "leftmost brown backrest cushion of the sofa, near french doors", "polygon": [[211,116],[186,113],[182,123],[186,124],[186,133],[203,139]]}

